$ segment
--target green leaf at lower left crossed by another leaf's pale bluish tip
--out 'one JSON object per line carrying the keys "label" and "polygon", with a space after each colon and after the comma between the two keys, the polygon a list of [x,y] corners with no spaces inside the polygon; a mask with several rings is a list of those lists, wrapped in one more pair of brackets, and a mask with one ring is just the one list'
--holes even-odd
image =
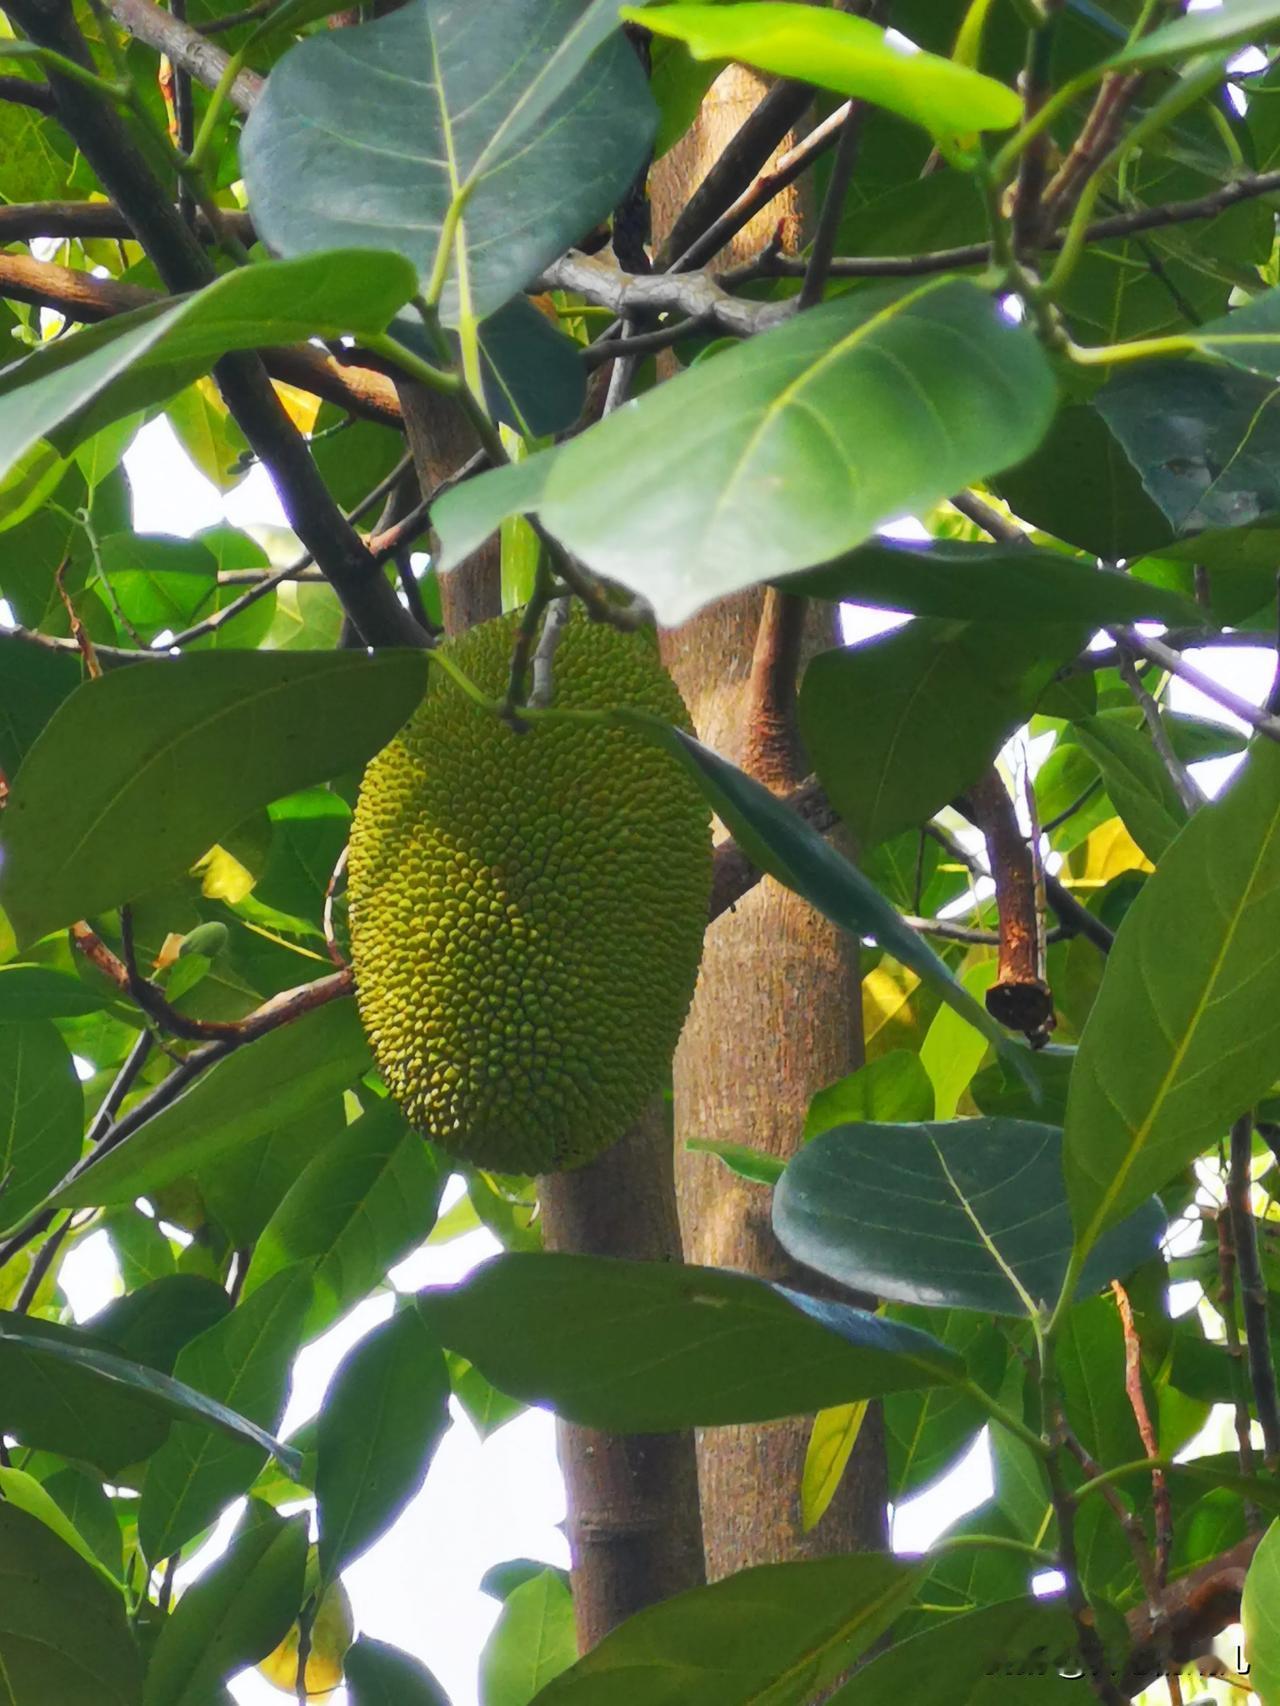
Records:
{"label": "green leaf at lower left crossed by another leaf's pale bluish tip", "polygon": [[[230,1315],[191,1339],[174,1373],[259,1426],[280,1421],[311,1295],[304,1268],[276,1274]],[[246,1440],[179,1423],[147,1465],[138,1544],[152,1564],[184,1546],[244,1493],[266,1454]]]}

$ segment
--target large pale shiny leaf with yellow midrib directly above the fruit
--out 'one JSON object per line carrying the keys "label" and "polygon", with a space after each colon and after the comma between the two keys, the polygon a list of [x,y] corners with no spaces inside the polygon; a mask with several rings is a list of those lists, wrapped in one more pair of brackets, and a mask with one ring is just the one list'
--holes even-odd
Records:
{"label": "large pale shiny leaf with yellow midrib directly above the fruit", "polygon": [[442,561],[532,507],[678,624],[1019,461],[1053,406],[1038,343],[976,285],[852,292],[698,363],[519,476],[449,493]]}

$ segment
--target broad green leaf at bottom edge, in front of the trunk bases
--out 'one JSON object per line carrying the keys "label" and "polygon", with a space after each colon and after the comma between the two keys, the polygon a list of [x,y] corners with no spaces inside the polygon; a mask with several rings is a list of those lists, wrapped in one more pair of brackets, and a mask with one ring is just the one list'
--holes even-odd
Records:
{"label": "broad green leaf at bottom edge, in front of the trunk bases", "polygon": [[920,1576],[870,1552],[741,1570],[628,1617],[538,1706],[800,1706],[889,1628]]}

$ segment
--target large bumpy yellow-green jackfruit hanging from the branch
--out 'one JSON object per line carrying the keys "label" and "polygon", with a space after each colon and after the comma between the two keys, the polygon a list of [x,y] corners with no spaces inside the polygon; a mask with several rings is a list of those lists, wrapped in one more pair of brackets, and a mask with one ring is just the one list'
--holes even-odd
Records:
{"label": "large bumpy yellow-green jackfruit hanging from the branch", "polygon": [[[449,653],[486,694],[517,616]],[[575,616],[555,706],[688,727],[643,635]],[[495,1172],[561,1172],[657,1092],[698,974],[710,821],[679,764],[620,728],[515,734],[444,670],[365,771],[348,896],[357,1000],[391,1094]]]}

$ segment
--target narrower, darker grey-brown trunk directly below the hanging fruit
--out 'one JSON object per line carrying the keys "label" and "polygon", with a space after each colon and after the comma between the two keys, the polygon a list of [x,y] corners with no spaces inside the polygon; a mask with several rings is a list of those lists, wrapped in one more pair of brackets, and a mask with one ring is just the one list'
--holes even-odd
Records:
{"label": "narrower, darker grey-brown trunk directly below the hanging fruit", "polygon": [[[679,1261],[667,1109],[655,1100],[599,1160],[539,1181],[548,1249]],[[572,1329],[567,1329],[572,1331]],[[579,1648],[705,1581],[691,1433],[558,1425]]]}

